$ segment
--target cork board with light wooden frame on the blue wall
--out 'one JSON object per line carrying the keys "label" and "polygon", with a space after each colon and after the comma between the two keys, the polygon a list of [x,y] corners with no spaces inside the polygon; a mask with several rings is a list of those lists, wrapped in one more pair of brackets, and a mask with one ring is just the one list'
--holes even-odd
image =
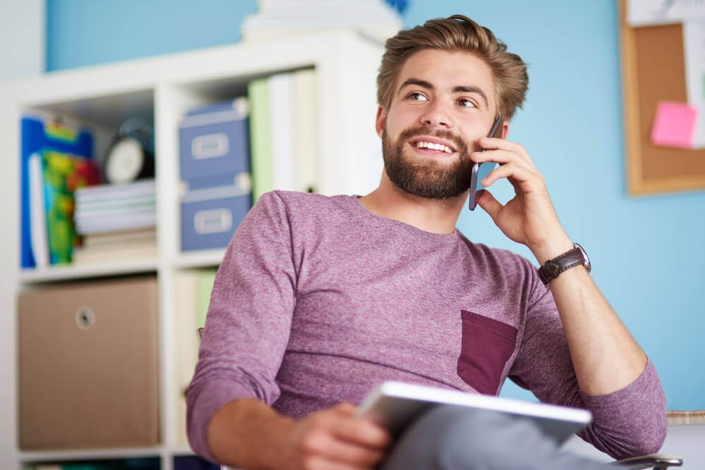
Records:
{"label": "cork board with light wooden frame on the blue wall", "polygon": [[682,27],[630,27],[626,23],[626,0],[617,0],[617,8],[627,190],[639,195],[703,189],[705,149],[656,147],[650,140],[658,101],[687,101]]}

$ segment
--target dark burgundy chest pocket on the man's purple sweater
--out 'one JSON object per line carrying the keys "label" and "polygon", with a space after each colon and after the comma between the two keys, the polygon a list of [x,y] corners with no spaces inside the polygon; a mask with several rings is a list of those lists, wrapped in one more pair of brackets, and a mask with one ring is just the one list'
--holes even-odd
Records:
{"label": "dark burgundy chest pocket on the man's purple sweater", "polygon": [[514,352],[517,328],[461,310],[462,345],[458,376],[480,393],[496,395],[502,371]]}

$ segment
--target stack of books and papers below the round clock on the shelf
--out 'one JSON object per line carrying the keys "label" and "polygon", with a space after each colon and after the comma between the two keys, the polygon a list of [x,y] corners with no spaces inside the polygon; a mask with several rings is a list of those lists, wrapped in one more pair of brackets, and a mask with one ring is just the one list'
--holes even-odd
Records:
{"label": "stack of books and papers below the round clock on the shelf", "polygon": [[76,191],[74,222],[83,243],[73,264],[140,259],[157,254],[154,180]]}

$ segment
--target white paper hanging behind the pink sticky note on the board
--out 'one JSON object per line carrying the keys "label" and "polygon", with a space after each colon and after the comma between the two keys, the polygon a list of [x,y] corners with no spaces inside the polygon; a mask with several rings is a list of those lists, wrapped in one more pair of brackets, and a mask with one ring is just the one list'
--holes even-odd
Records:
{"label": "white paper hanging behind the pink sticky note on the board", "polygon": [[705,21],[683,23],[685,89],[688,104],[698,109],[693,148],[705,148]]}

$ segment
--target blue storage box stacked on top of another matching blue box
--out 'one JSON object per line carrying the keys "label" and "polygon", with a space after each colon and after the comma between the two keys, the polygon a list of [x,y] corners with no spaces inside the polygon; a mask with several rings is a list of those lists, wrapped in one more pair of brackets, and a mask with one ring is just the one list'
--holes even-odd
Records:
{"label": "blue storage box stacked on top of another matching blue box", "polygon": [[250,171],[246,98],[189,111],[179,125],[181,180]]}

